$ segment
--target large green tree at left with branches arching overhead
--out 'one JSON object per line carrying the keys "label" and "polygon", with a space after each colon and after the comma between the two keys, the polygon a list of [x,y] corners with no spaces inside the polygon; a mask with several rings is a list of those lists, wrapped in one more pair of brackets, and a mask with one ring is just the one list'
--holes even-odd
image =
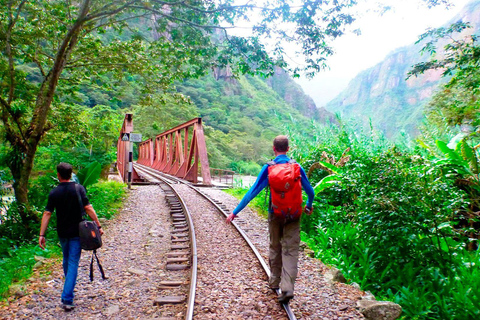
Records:
{"label": "large green tree at left with branches arching overhead", "polygon": [[[226,65],[268,74],[275,64],[286,65],[280,43],[285,37],[302,44],[305,69],[315,72],[331,52],[325,40],[340,36],[352,22],[343,9],[353,3],[0,1],[1,119],[22,220],[36,220],[28,210],[27,186],[38,144],[56,125],[50,121],[52,110],[81,84],[97,84],[107,72],[119,81],[135,74],[146,79],[146,91],[153,91],[174,79],[202,75],[209,66]],[[259,17],[253,36],[225,32],[253,11]],[[134,21],[149,25],[151,36],[132,28]],[[285,28],[276,27],[282,23]],[[264,35],[276,42],[272,55],[260,41]]]}

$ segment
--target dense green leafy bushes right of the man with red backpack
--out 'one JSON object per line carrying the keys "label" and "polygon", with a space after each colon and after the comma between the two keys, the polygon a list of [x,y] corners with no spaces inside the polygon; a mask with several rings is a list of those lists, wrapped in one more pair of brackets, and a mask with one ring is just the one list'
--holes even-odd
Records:
{"label": "dense green leafy bushes right of the man with red backpack", "polygon": [[[292,156],[306,169],[324,152],[339,159],[351,147],[336,182],[316,195],[313,214],[302,218],[302,239],[363,290],[399,303],[406,318],[478,317],[478,279],[471,277],[480,260],[466,250],[471,228],[459,224],[471,195],[445,174],[441,157],[340,124],[315,128],[310,140],[290,128]],[[461,148],[444,151],[468,166]],[[326,164],[311,171],[313,184],[329,170],[338,172]]]}

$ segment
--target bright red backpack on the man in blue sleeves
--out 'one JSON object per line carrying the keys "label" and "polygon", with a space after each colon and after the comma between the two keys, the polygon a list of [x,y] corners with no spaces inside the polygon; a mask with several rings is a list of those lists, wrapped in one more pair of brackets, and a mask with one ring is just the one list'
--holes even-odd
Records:
{"label": "bright red backpack on the man in blue sleeves", "polygon": [[273,214],[279,218],[299,219],[303,209],[300,165],[294,160],[281,164],[271,161],[268,165]]}

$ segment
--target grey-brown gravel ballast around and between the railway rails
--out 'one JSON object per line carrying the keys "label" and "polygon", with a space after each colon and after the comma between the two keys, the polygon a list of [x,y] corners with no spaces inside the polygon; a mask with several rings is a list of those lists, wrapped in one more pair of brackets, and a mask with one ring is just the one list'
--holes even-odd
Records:
{"label": "grey-brown gravel ballast around and between the railway rails", "polygon": [[[206,200],[183,185],[174,186],[189,207],[198,250],[195,319],[286,319],[256,257],[232,225]],[[238,200],[220,190],[202,189],[232,210]],[[266,261],[268,229],[250,209],[239,217],[242,229]],[[167,271],[172,221],[158,186],[135,186],[119,215],[104,224],[104,247],[98,255],[108,279],[98,270],[90,282],[90,253],[83,252],[74,311],[60,305],[61,261],[42,262],[22,285],[26,295],[0,305],[0,319],[183,319],[185,305],[159,305],[159,297],[187,295],[190,270]],[[48,242],[47,245],[55,245]],[[290,305],[298,319],[363,319],[355,308],[363,293],[352,286],[328,283],[327,267],[300,253],[295,298]],[[169,288],[166,281],[182,283]],[[179,298],[180,299],[180,298]]]}

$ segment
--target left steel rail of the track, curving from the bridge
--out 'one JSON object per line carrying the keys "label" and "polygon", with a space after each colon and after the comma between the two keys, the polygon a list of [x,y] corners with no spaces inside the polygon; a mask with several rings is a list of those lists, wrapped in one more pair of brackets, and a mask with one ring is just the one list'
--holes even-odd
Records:
{"label": "left steel rail of the track, curving from the bridge", "polygon": [[[135,164],[135,166],[137,166],[137,164]],[[144,168],[148,168],[148,167],[142,166],[142,167],[137,168],[137,169],[139,169],[139,172],[147,173],[147,175],[154,176],[154,174],[152,174],[151,172],[146,172],[147,170],[144,170]],[[195,228],[193,226],[193,220],[192,220],[192,217],[190,215],[190,211],[188,210],[187,205],[183,201],[182,197],[178,194],[178,192],[175,190],[175,188],[172,187],[172,184],[167,181],[167,180],[174,180],[174,179],[166,179],[165,177],[160,177],[160,176],[156,176],[156,178],[159,178],[160,180],[162,180],[162,182],[165,183],[173,191],[173,193],[175,193],[175,195],[177,196],[180,204],[183,207],[183,210],[185,212],[185,216],[187,218],[188,229],[189,229],[189,234],[190,234],[190,248],[191,248],[191,251],[192,251],[192,266],[191,266],[191,273],[190,273],[190,290],[189,290],[189,294],[188,294],[187,312],[185,314],[185,320],[192,320],[193,319],[193,311],[194,311],[193,309],[195,307],[195,290],[197,288],[197,269],[198,269],[197,240],[195,238]],[[175,179],[175,180],[178,180],[178,179]]]}

